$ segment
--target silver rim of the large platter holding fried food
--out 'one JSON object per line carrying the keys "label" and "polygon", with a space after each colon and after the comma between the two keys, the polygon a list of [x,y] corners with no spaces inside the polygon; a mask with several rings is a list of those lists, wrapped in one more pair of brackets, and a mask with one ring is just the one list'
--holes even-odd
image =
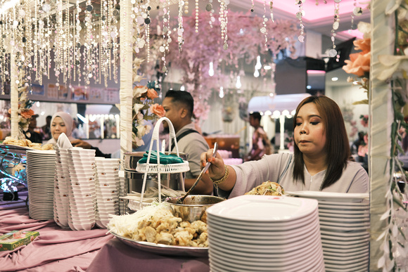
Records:
{"label": "silver rim of the large platter holding fried food", "polygon": [[132,240],[116,233],[112,234],[126,245],[139,250],[167,256],[208,258],[208,247],[181,247],[179,245],[163,245],[156,244],[154,242],[141,242]]}

